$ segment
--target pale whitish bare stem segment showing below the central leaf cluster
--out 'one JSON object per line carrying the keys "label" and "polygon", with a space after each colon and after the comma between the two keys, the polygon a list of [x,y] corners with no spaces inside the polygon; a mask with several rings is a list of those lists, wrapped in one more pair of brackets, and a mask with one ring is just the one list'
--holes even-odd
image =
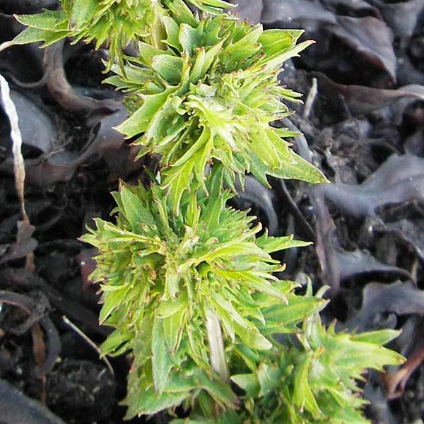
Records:
{"label": "pale whitish bare stem segment showing below the central leaf cluster", "polygon": [[223,334],[218,315],[206,307],[206,331],[210,349],[210,359],[213,370],[225,381],[230,382],[227,361],[225,360]]}

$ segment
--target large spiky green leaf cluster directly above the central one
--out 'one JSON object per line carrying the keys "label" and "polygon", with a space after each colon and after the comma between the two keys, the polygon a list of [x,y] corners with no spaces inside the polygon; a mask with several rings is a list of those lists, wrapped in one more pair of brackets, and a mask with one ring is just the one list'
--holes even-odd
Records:
{"label": "large spiky green leaf cluster directly above the central one", "polygon": [[[107,78],[130,90],[131,117],[117,127],[136,137],[141,152],[160,154],[163,187],[179,205],[192,179],[204,185],[208,164],[225,167],[225,181],[252,172],[267,184],[266,174],[309,182],[326,179],[296,155],[270,122],[290,114],[282,99],[299,94],[279,85],[281,64],[312,42],[296,42],[301,30],[263,30],[227,16],[199,19],[189,13],[163,17],[163,48],[139,44],[123,73]],[[143,67],[140,67],[140,64]]]}

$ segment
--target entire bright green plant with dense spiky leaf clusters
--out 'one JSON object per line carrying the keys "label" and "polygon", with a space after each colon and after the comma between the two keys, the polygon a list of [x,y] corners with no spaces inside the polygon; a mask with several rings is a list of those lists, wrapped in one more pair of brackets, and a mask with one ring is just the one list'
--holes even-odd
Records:
{"label": "entire bright green plant with dense spiky leaf clusters", "polygon": [[[309,243],[259,235],[254,217],[227,204],[247,172],[263,184],[326,181],[281,138],[293,132],[270,125],[290,114],[281,100],[300,96],[280,86],[281,65],[311,42],[298,44],[301,30],[238,23],[221,0],[61,6],[18,16],[28,28],[14,42],[108,45],[105,82],[127,93],[130,114],[117,129],[160,161],[151,187],[114,193],[116,223],[96,219],[81,237],[98,248],[100,322],[114,327],[102,353],[134,357],[126,418],[182,405],[192,424],[367,423],[357,381],[401,363],[381,346],[396,331],[324,328],[321,293],[295,293],[271,257]],[[122,51],[130,42],[136,57]]]}

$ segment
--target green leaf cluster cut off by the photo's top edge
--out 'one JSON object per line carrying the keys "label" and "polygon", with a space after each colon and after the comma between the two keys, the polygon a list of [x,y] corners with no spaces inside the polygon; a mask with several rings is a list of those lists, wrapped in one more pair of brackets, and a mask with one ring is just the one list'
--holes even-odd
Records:
{"label": "green leaf cluster cut off by the photo's top edge", "polygon": [[[160,38],[160,17],[167,8],[185,8],[182,0],[59,0],[57,11],[45,10],[35,15],[16,18],[28,28],[16,37],[16,44],[44,41],[45,46],[64,37],[74,37],[73,42],[95,41],[98,49],[103,43],[110,49],[109,66],[115,57],[124,66],[124,47],[130,42],[148,40],[153,45]],[[231,5],[222,0],[187,0],[209,13],[219,13]]]}

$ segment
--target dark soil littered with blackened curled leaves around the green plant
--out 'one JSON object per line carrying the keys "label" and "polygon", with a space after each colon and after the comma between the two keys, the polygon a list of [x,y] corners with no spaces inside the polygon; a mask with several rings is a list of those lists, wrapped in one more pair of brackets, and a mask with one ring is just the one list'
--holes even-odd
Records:
{"label": "dark soil littered with blackened curled leaves around the green plant", "polygon": [[[317,41],[284,66],[282,83],[308,101],[290,105],[297,113],[276,125],[302,131],[295,150],[333,184],[272,180],[266,189],[248,178],[234,204],[252,208],[275,235],[314,241],[278,259],[287,263],[284,278],[302,283],[309,276],[314,288],[330,286],[326,322],[336,318],[340,329],[359,331],[403,330],[391,347],[408,358],[408,376],[397,369],[385,377],[370,372],[366,413],[374,423],[420,420],[424,2],[239,3],[242,18],[265,28],[305,28],[302,40]],[[0,42],[23,29],[12,13],[56,6],[0,0]],[[93,217],[107,219],[119,178],[135,182],[143,179],[143,166],[155,166],[151,158],[134,163],[133,148],[113,129],[126,112],[120,95],[101,85],[105,55],[92,45],[58,43],[43,66],[43,51],[34,45],[0,53],[0,73],[22,126],[30,221],[20,214],[10,125],[0,103],[0,420],[7,424],[112,424],[125,413],[119,401],[131,358],[110,358],[112,372],[69,324],[96,345],[110,332],[98,326],[98,288],[88,281],[93,251],[78,237]],[[46,64],[53,69],[47,86],[25,86],[42,78]],[[31,252],[33,267],[25,259]],[[153,422],[168,419],[160,415]]]}

